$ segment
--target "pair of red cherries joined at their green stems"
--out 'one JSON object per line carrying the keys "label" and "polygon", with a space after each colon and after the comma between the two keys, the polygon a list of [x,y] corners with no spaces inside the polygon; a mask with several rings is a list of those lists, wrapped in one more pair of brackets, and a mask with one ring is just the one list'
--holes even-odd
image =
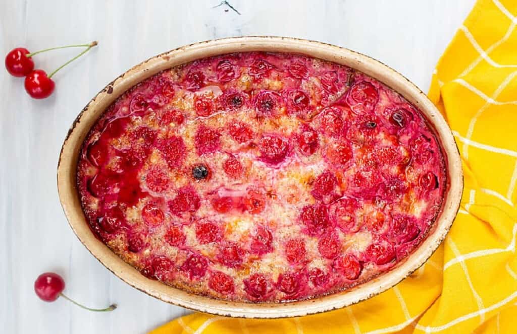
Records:
{"label": "pair of red cherries joined at their green stems", "polygon": [[[13,76],[25,77],[25,90],[32,98],[48,98],[55,88],[55,83],[52,80],[52,76],[56,74],[57,71],[67,66],[75,59],[84,55],[86,52],[88,52],[90,49],[92,49],[92,47],[96,45],[97,42],[94,41],[89,44],[75,44],[51,47],[50,49],[44,49],[32,53],[24,47],[17,47],[16,49],[11,50],[5,57],[5,68],[7,69],[7,72],[9,72]],[[59,66],[49,75],[47,75],[47,72],[45,72],[44,70],[34,69],[33,57],[35,55],[51,50],[66,49],[67,47],[85,47],[86,49],[77,56],[65,62],[62,66]]]}

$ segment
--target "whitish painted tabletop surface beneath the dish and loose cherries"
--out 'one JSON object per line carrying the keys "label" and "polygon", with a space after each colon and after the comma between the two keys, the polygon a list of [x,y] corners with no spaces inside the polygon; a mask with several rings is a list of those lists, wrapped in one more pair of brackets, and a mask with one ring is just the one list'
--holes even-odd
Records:
{"label": "whitish painted tabletop surface beneath the dish and loose cherries", "polygon": [[[0,54],[13,47],[99,41],[59,72],[56,91],[32,100],[23,80],[0,70],[0,327],[5,333],[145,332],[187,311],[149,297],[113,276],[68,227],[55,170],[72,120],[102,87],[158,53],[213,38],[277,35],[319,40],[373,56],[424,91],[436,61],[474,0],[230,1],[242,14],[206,1],[0,0]],[[36,57],[51,71],[77,50]],[[40,301],[34,279],[65,277],[65,292],[112,313]]]}

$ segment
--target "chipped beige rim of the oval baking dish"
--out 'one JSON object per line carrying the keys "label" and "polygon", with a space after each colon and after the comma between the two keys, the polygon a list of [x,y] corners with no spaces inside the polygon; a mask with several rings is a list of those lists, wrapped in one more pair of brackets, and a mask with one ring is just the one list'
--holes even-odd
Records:
{"label": "chipped beige rim of the oval baking dish", "polygon": [[[290,303],[235,303],[198,296],[142,276],[120,259],[89,229],[75,184],[82,142],[104,109],[127,89],[162,70],[195,59],[226,53],[264,51],[305,54],[346,65],[364,72],[402,94],[416,105],[434,126],[447,159],[449,188],[443,211],[424,242],[391,271],[358,287],[336,294]],[[339,309],[375,296],[399,283],[419,268],[438,248],[456,216],[463,192],[463,172],[458,147],[451,130],[433,103],[413,83],[383,63],[343,47],[285,37],[235,37],[194,43],[150,58],[117,77],[93,98],[73,122],[64,141],[57,166],[59,200],[70,227],[84,246],[113,274],[151,296],[192,310],[223,316],[279,318]]]}

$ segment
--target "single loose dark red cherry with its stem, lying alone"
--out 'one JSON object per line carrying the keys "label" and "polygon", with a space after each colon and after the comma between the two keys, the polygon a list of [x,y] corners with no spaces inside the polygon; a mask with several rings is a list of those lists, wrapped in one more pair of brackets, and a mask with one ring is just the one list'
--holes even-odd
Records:
{"label": "single loose dark red cherry with its stem, lying alone", "polygon": [[43,273],[38,276],[36,281],[34,282],[34,291],[36,292],[36,295],[41,300],[48,301],[49,303],[51,301],[56,300],[59,296],[71,301],[73,304],[88,310],[88,311],[94,311],[94,312],[107,312],[107,311],[113,311],[117,308],[116,304],[110,305],[109,307],[105,309],[93,309],[86,307],[84,305],[81,305],[77,303],[76,301],[68,298],[63,294],[63,290],[65,290],[65,281],[63,280],[63,277],[55,274],[55,273]]}

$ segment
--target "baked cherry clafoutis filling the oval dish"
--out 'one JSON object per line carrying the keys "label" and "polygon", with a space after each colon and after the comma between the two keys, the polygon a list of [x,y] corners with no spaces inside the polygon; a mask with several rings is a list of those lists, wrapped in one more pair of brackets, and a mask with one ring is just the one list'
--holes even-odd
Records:
{"label": "baked cherry clafoutis filling the oval dish", "polygon": [[287,53],[162,71],[86,136],[90,228],[149,279],[273,303],[352,289],[435,226],[444,154],[422,113],[376,79]]}

